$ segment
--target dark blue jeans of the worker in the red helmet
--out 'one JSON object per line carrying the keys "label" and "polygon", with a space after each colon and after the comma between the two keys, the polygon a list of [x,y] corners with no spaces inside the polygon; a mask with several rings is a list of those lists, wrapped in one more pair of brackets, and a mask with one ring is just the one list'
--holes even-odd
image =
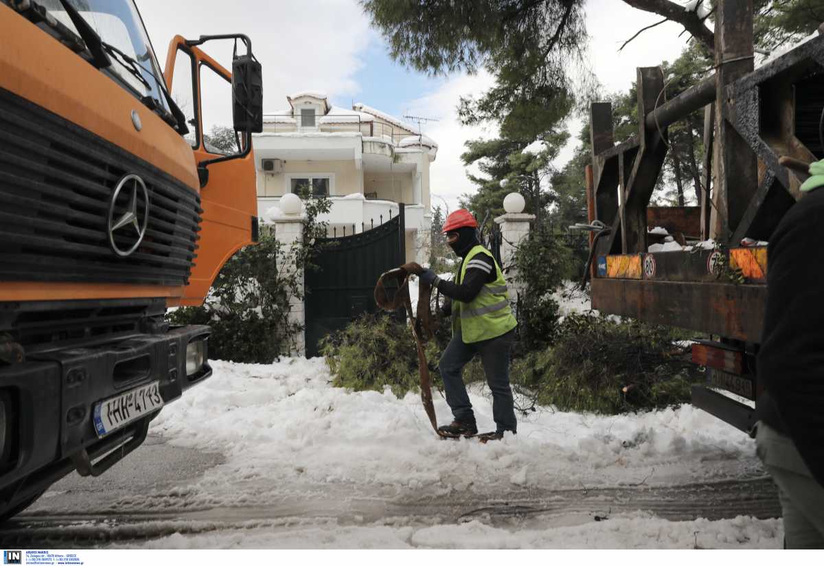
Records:
{"label": "dark blue jeans of the worker in the red helmet", "polygon": [[452,340],[443,351],[438,369],[443,379],[443,389],[447,393],[447,404],[458,421],[474,421],[472,404],[466,395],[461,373],[475,354],[480,354],[484,366],[486,382],[492,391],[492,416],[496,432],[517,430],[513,391],[509,386],[509,350],[512,347],[515,330],[473,344],[464,344],[460,330],[452,335]]}

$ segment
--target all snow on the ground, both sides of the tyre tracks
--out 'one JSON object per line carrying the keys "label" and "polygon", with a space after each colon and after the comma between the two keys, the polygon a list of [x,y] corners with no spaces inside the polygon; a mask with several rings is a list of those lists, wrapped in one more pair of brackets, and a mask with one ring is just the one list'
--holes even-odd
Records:
{"label": "all snow on the ground, both sides of the tyre tracks", "polygon": [[[271,365],[213,362],[214,375],[163,409],[152,433],[173,445],[220,452],[225,463],[192,485],[142,494],[142,512],[265,509],[232,530],[181,529],[154,548],[780,548],[779,519],[667,521],[650,512],[599,511],[489,521],[484,512],[443,523],[402,517],[386,502],[447,505],[506,497],[545,500],[599,489],[662,489],[756,479],[754,442],[691,406],[616,417],[551,408],[521,419],[517,437],[486,445],[441,441],[419,396],[330,385],[320,358]],[[436,392],[442,421],[450,414]],[[480,428],[492,428],[488,391],[471,387]],[[569,492],[564,492],[569,490]],[[172,493],[173,492],[173,493]],[[553,495],[553,494],[557,495]],[[334,503],[330,503],[333,501]],[[370,506],[370,501],[374,504]],[[152,503],[153,502],[153,503]],[[315,502],[315,503],[313,503]],[[458,503],[456,503],[457,505]],[[297,505],[301,513],[291,514]],[[129,511],[129,501],[119,509]],[[330,509],[330,506],[335,509]],[[483,507],[483,505],[480,505]],[[313,513],[307,509],[315,509]],[[364,509],[366,511],[364,511]],[[372,512],[370,512],[372,509]],[[211,511],[208,511],[211,510]],[[276,517],[300,517],[273,520]],[[482,511],[482,510],[481,510]],[[267,514],[268,513],[268,514]],[[248,518],[248,512],[242,517]],[[330,518],[331,517],[331,518]],[[343,517],[343,518],[342,518]]]}

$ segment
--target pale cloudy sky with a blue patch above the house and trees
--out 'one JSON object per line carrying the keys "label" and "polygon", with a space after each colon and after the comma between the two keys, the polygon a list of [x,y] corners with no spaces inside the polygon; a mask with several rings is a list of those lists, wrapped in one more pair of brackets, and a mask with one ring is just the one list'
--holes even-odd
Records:
{"label": "pale cloudy sky with a blue patch above the house and trees", "polygon": [[[471,0],[466,0],[471,1]],[[676,0],[684,2],[685,0]],[[492,137],[494,128],[466,128],[456,119],[458,97],[477,94],[492,84],[486,73],[467,77],[431,78],[393,63],[380,35],[369,26],[355,0],[137,0],[161,65],[171,38],[180,34],[245,33],[264,69],[264,110],[288,107],[286,96],[297,91],[323,91],[335,105],[363,102],[402,118],[428,116],[437,122],[422,129],[440,148],[432,166],[433,206],[445,199],[454,209],[457,197],[472,192],[460,155],[467,139]],[[622,52],[618,48],[635,31],[660,20],[621,0],[588,0],[592,67],[607,91],[630,87],[636,67],[650,67],[676,58],[687,35],[667,22],[645,31]],[[207,44],[231,68],[231,44]],[[224,93],[221,93],[222,96]],[[213,115],[231,116],[229,101],[212,101]],[[208,110],[204,110],[204,117]],[[227,119],[230,122],[231,119]],[[576,135],[579,123],[571,124]],[[569,160],[573,147],[559,157]],[[583,183],[583,180],[582,180]]]}

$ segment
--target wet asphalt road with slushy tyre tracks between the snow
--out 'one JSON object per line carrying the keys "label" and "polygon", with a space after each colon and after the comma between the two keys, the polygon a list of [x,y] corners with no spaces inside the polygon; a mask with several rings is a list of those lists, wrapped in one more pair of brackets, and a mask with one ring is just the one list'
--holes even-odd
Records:
{"label": "wet asphalt road with slushy tyre tracks between the snow", "polygon": [[222,464],[222,455],[172,447],[150,436],[133,456],[101,477],[82,478],[73,473],[54,484],[26,512],[7,522],[0,531],[0,544],[24,549],[79,548],[144,542],[176,532],[232,531],[250,524],[285,528],[294,521],[329,519],[342,525],[368,524],[386,517],[419,525],[476,519],[495,526],[528,528],[539,521],[564,525],[638,510],[670,520],[780,517],[781,511],[775,487],[766,478],[667,487],[465,491],[447,497],[361,493],[358,486],[324,485],[266,505],[190,506],[189,486]]}

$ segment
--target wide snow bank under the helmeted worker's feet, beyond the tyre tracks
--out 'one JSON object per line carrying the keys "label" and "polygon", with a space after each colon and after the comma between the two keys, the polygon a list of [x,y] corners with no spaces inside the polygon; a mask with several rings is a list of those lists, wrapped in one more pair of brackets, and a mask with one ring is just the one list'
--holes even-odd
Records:
{"label": "wide snow bank under the helmeted worker's feet, beyond the tyre tracks", "polygon": [[[192,504],[265,505],[286,491],[330,485],[437,497],[468,484],[500,493],[762,473],[750,438],[690,405],[610,417],[542,408],[503,442],[441,442],[419,395],[332,387],[321,358],[213,367],[213,377],[164,409],[152,428],[173,444],[227,457],[187,496]],[[433,397],[439,419],[451,419],[442,395]],[[479,427],[493,428],[486,387],[471,386],[471,400]]]}

